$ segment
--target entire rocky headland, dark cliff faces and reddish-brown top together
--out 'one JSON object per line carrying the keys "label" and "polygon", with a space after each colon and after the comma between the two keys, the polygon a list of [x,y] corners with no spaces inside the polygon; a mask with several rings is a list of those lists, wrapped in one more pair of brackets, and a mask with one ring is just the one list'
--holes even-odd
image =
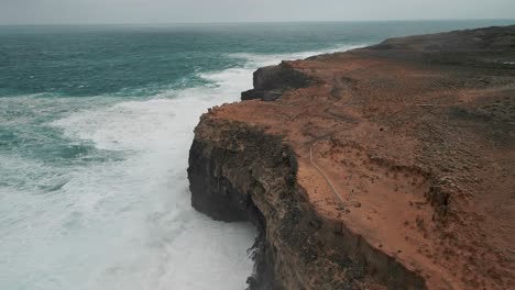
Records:
{"label": "entire rocky headland, dark cliff faces and reddish-brown top together", "polygon": [[188,177],[258,227],[251,289],[513,289],[515,26],[283,62],[242,99]]}

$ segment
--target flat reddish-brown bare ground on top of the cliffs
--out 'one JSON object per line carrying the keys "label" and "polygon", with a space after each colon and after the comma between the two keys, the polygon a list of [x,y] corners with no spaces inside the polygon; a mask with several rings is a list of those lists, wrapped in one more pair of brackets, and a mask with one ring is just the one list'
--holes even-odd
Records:
{"label": "flat reddish-brown bare ground on top of the cliffs", "polygon": [[513,289],[515,26],[388,40],[281,66],[309,85],[205,118],[281,136],[316,213],[426,288]]}

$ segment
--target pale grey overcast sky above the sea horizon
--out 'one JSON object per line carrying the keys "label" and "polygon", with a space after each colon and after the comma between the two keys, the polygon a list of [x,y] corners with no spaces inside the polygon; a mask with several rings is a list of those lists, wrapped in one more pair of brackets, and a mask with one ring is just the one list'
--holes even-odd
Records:
{"label": "pale grey overcast sky above the sea horizon", "polygon": [[0,0],[0,24],[515,19],[515,0]]}

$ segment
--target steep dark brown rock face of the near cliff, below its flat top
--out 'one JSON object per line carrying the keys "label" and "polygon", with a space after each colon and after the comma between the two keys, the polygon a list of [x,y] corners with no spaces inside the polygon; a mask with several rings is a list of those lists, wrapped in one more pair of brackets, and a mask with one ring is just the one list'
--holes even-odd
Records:
{"label": "steep dark brown rock face of the near cliff, below its flat top", "polygon": [[371,277],[395,289],[425,288],[418,275],[319,216],[296,181],[297,167],[282,137],[259,127],[205,115],[195,131],[193,207],[258,227],[250,289],[357,289],[375,285]]}

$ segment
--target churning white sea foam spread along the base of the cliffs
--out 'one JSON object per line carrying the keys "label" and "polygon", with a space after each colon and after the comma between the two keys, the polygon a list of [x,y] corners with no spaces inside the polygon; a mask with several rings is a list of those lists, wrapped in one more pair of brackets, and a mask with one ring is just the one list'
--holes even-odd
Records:
{"label": "churning white sea foam spread along the base of the cliffs", "polygon": [[[209,107],[238,101],[256,67],[317,53],[233,55],[248,65],[202,74],[209,86],[142,101],[105,100],[48,124],[123,158],[52,175],[46,181],[56,190],[45,194],[13,194],[0,185],[0,288],[244,289],[255,232],[191,209],[193,130]],[[41,164],[25,167],[46,171]]]}

